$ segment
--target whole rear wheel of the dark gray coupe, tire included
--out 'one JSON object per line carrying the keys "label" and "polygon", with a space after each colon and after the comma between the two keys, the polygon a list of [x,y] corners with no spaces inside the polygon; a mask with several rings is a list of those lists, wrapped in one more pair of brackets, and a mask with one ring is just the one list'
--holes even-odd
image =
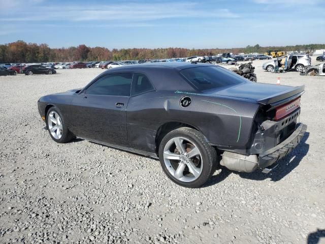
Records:
{"label": "whole rear wheel of the dark gray coupe, tire included", "polygon": [[182,127],[161,140],[159,160],[166,175],[176,184],[198,188],[214,173],[217,154],[199,131]]}

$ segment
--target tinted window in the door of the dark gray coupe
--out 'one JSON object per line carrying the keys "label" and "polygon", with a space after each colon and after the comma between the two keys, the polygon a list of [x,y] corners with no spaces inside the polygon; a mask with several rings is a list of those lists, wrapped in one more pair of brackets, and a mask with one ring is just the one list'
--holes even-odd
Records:
{"label": "tinted window in the door of the dark gray coupe", "polygon": [[85,94],[130,96],[132,74],[105,75],[90,85]]}

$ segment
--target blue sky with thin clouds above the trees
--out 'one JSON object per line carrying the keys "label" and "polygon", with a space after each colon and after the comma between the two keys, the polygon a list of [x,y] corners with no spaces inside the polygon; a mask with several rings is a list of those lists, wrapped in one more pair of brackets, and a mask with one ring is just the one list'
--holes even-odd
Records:
{"label": "blue sky with thin clouds above the trees", "polygon": [[324,13],[324,0],[0,0],[0,44],[112,49],[325,43]]}

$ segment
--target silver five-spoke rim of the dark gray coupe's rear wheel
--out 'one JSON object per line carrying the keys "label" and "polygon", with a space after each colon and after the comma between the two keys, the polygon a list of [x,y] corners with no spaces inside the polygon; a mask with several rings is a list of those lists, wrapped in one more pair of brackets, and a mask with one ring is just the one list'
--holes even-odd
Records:
{"label": "silver five-spoke rim of the dark gray coupe's rear wheel", "polygon": [[199,148],[185,137],[174,137],[164,147],[164,162],[177,180],[191,182],[202,172],[202,155]]}

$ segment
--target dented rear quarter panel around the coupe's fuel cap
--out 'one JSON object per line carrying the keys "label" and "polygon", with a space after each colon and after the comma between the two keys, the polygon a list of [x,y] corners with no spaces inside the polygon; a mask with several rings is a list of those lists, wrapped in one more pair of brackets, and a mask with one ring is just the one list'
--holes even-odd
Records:
{"label": "dented rear quarter panel around the coupe's fuel cap", "polygon": [[[185,108],[180,105],[184,96],[191,98],[191,104]],[[128,139],[137,149],[154,152],[158,129],[173,121],[198,129],[211,144],[245,148],[258,107],[250,101],[179,90],[151,92],[129,100]]]}

